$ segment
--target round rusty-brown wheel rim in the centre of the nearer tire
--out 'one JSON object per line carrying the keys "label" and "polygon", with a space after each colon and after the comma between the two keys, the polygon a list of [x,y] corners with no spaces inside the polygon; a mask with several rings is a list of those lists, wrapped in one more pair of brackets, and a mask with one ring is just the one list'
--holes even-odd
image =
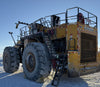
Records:
{"label": "round rusty-brown wheel rim in the centre of the nearer tire", "polygon": [[32,72],[35,69],[35,56],[32,53],[28,53],[25,59],[25,65],[29,72]]}

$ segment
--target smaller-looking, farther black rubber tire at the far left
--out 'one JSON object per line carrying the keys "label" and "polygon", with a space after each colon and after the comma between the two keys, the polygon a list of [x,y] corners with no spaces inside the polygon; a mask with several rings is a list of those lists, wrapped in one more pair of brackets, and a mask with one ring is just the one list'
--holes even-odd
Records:
{"label": "smaller-looking, farther black rubber tire at the far left", "polygon": [[15,47],[6,47],[3,52],[3,68],[7,73],[13,73],[18,70],[20,57],[18,49]]}

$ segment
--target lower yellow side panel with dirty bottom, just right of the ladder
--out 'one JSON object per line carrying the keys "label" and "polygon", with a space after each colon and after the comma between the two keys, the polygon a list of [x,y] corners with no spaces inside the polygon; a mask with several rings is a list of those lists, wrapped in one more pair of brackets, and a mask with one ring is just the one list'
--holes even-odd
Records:
{"label": "lower yellow side panel with dirty bottom, just right of the ladder", "polygon": [[68,52],[68,71],[71,76],[79,76],[80,55],[77,51]]}

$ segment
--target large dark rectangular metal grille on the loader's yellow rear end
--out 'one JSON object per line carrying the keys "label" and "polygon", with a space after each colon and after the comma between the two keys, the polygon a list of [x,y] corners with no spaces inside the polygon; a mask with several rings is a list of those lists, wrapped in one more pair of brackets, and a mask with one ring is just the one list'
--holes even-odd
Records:
{"label": "large dark rectangular metal grille on the loader's yellow rear end", "polygon": [[81,63],[96,61],[96,36],[81,33]]}

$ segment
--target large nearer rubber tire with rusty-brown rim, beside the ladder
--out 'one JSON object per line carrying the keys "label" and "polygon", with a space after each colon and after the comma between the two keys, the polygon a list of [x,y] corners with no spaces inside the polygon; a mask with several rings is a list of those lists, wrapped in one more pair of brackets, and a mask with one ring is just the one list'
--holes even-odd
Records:
{"label": "large nearer rubber tire with rusty-brown rim, beside the ladder", "polygon": [[29,43],[24,50],[22,60],[26,78],[37,81],[47,77],[51,71],[49,59],[48,50],[42,43]]}

